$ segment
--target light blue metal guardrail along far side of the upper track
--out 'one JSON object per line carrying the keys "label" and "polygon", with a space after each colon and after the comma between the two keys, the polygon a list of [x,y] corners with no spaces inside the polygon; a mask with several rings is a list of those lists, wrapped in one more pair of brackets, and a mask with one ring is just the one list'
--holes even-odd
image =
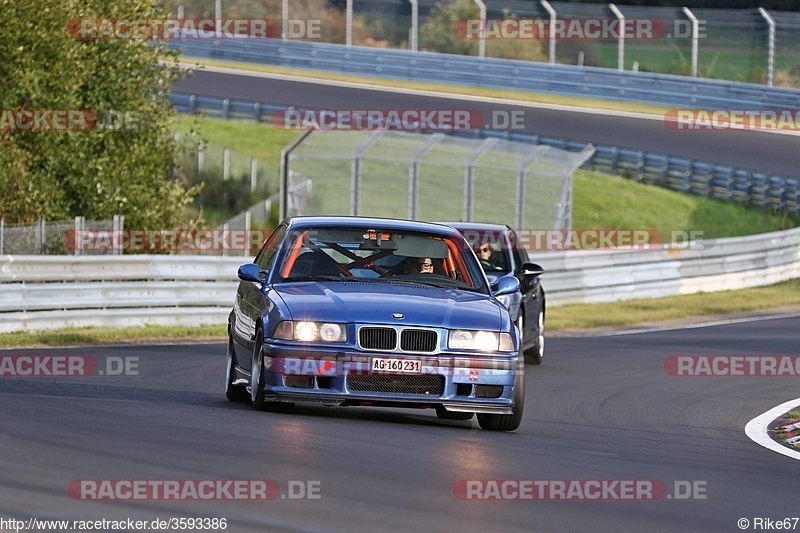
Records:
{"label": "light blue metal guardrail along far side of the upper track", "polygon": [[598,67],[553,65],[277,39],[173,40],[191,57],[326,70],[408,81],[519,89],[664,106],[708,109],[797,109],[800,91]]}

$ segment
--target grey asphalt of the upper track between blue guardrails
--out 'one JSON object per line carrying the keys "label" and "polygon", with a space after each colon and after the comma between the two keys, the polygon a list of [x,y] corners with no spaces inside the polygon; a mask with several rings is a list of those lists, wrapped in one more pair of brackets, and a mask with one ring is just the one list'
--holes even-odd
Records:
{"label": "grey asphalt of the upper track between blue guardrails", "polygon": [[[433,97],[380,89],[338,87],[314,81],[198,71],[176,84],[176,92],[216,96],[279,106],[331,110],[450,109],[523,111],[521,131],[651,150],[669,155],[800,177],[798,137],[756,131],[671,130],[663,120],[645,120],[579,110],[531,108],[516,104]],[[235,147],[231,147],[235,148]]]}

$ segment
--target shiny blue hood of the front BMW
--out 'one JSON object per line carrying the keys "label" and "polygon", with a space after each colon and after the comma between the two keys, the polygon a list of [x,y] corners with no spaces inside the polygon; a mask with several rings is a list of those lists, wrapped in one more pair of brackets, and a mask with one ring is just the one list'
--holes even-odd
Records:
{"label": "shiny blue hood of the front BMW", "polygon": [[[504,308],[485,294],[383,282],[300,282],[275,286],[293,320],[500,331]],[[392,314],[401,313],[397,320]]]}

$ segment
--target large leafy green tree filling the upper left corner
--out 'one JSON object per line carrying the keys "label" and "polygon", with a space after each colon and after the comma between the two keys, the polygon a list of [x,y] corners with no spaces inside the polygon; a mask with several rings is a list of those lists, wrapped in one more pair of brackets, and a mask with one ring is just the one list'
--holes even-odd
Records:
{"label": "large leafy green tree filling the upper left corner", "polygon": [[[182,224],[194,191],[172,177],[168,95],[180,76],[178,54],[159,41],[70,33],[80,20],[152,20],[163,17],[159,10],[139,0],[0,2],[0,217],[121,214],[127,227]],[[67,131],[55,120],[42,121],[51,131],[19,129],[20,117],[62,112],[84,120]]]}

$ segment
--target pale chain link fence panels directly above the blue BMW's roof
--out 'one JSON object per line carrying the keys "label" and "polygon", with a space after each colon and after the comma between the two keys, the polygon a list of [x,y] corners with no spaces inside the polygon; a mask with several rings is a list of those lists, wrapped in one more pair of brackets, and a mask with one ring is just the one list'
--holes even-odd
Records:
{"label": "pale chain link fence panels directly above the blue BMW's roof", "polygon": [[565,229],[572,174],[593,152],[441,133],[319,130],[286,155],[286,190],[304,198],[287,201],[285,213]]}

